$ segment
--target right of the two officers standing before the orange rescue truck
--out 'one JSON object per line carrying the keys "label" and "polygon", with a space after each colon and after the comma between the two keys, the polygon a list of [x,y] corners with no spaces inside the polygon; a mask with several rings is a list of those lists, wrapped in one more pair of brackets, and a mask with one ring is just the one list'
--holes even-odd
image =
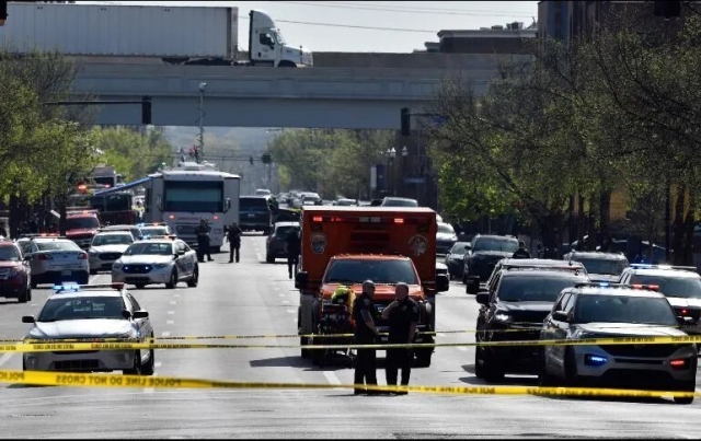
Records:
{"label": "right of the two officers standing before the orange rescue truck", "polygon": [[[382,318],[390,322],[389,343],[399,345],[411,345],[416,336],[416,323],[418,323],[418,304],[409,297],[409,286],[397,283],[394,289],[394,301],[382,311]],[[397,385],[398,370],[402,370],[402,386],[409,385],[409,376],[412,372],[412,359],[414,353],[411,348],[388,348],[384,361],[384,373],[387,374],[387,385]],[[395,392],[398,395],[405,395],[406,392]]]}

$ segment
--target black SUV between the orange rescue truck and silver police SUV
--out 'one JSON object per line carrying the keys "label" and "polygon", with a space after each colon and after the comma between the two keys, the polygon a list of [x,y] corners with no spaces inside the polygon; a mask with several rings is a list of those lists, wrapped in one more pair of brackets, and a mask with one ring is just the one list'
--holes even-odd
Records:
{"label": "black SUV between the orange rescue truck and silver police SUV", "polygon": [[[489,289],[476,295],[481,304],[476,341],[538,340],[560,292],[588,281],[586,271],[578,268],[502,268]],[[474,374],[487,382],[499,381],[506,373],[535,374],[538,368],[537,346],[475,348]]]}

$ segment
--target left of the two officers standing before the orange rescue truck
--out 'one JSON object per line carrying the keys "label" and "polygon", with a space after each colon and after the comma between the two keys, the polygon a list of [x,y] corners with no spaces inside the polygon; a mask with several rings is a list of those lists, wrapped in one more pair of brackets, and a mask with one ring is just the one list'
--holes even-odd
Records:
{"label": "left of the two officers standing before the orange rescue truck", "polygon": [[[379,336],[375,326],[375,282],[363,282],[363,293],[353,302],[353,320],[355,321],[355,344],[374,345]],[[358,349],[355,360],[355,395],[376,394],[377,391],[368,391],[364,386],[377,385],[377,351],[375,349]]]}

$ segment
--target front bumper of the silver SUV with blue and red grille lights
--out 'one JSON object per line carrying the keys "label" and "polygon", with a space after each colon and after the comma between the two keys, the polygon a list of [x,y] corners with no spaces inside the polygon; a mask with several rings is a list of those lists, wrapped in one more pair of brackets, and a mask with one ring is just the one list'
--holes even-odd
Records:
{"label": "front bumper of the silver SUV with blue and red grille lights", "polygon": [[[662,345],[659,345],[662,346]],[[577,376],[582,380],[622,387],[674,387],[679,383],[694,382],[697,376],[697,351],[686,346],[671,349],[664,357],[612,355],[599,346],[574,346]],[[658,353],[662,355],[662,353]],[[606,358],[601,365],[591,365],[588,356]],[[686,364],[675,369],[670,360],[683,359]]]}

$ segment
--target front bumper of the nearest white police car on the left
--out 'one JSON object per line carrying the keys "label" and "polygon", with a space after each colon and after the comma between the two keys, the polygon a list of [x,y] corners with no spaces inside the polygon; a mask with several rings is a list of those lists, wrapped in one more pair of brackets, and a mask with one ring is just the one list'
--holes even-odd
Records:
{"label": "front bumper of the nearest white police car on the left", "polygon": [[26,352],[27,371],[110,372],[131,369],[136,351]]}

